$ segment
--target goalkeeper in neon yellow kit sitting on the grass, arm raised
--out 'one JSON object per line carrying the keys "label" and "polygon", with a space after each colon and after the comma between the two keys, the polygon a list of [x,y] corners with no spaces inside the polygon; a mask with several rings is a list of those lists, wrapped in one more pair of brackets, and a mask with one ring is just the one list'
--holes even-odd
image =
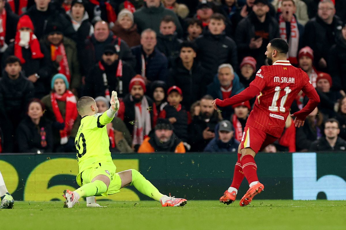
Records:
{"label": "goalkeeper in neon yellow kit sitting on the grass, arm raised", "polygon": [[96,102],[91,97],[82,97],[77,102],[77,110],[82,117],[75,146],[79,174],[76,181],[79,189],[65,190],[65,208],[72,208],[81,197],[107,196],[120,192],[121,188],[133,185],[148,197],[161,202],[162,206],[184,206],[186,199],[168,197],[161,194],[152,183],[137,170],[130,169],[116,173],[116,166],[109,151],[106,124],[110,123],[119,110],[117,92],[112,92],[111,107],[103,114],[98,113]]}

